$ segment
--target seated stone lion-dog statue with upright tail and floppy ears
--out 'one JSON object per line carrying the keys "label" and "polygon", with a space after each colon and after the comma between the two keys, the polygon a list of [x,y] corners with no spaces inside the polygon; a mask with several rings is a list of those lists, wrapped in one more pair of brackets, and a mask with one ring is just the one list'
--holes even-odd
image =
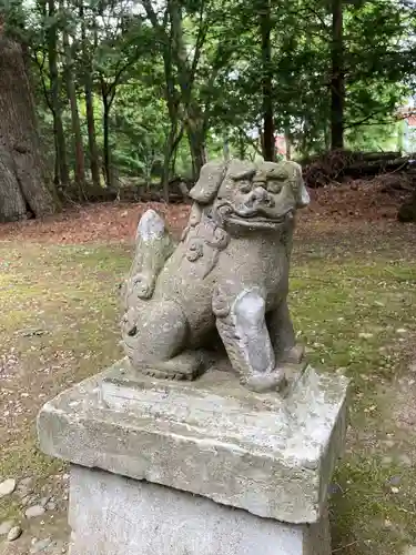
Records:
{"label": "seated stone lion-dog statue with upright tail and floppy ears", "polygon": [[206,369],[214,333],[245,386],[277,390],[284,364],[303,353],[286,303],[294,214],[310,202],[301,167],[210,162],[190,194],[177,246],[153,210],[140,220],[122,293],[131,365],[192,380]]}

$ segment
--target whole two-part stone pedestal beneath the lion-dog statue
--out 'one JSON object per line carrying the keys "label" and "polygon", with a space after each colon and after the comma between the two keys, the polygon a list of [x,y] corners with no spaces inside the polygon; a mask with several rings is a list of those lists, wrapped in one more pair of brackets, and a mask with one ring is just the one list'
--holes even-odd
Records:
{"label": "whole two-part stone pedestal beneath the lion-dog statue", "polygon": [[328,555],[346,392],[311,367],[282,398],[225,372],[158,381],[121,361],[62,393],[38,432],[72,464],[71,554]]}

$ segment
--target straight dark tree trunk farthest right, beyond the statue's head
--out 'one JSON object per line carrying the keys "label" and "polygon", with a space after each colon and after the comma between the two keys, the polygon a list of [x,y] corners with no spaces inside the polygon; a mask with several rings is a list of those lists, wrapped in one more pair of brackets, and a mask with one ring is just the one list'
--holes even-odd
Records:
{"label": "straight dark tree trunk farthest right, beyond the statue's head", "polygon": [[343,0],[332,0],[331,149],[344,148],[344,31]]}

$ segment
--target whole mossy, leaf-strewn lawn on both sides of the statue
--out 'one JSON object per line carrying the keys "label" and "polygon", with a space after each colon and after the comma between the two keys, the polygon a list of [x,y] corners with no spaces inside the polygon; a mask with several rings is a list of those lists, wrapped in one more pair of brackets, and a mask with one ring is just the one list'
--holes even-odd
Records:
{"label": "whole mossy, leaf-strewn lawn on both sides of the statue", "polygon": [[[34,417],[120,356],[116,285],[130,256],[128,246],[0,242],[0,478],[29,474],[41,487],[64,472],[37,450]],[[376,231],[364,242],[303,238],[292,274],[311,362],[353,381],[332,485],[334,552],[403,554],[416,544],[415,244]],[[20,512],[0,500],[0,522]]]}

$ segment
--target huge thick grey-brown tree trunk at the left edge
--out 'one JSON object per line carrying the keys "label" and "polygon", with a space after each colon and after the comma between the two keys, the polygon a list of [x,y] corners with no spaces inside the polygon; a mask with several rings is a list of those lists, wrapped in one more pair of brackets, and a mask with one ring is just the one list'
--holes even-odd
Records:
{"label": "huge thick grey-brown tree trunk at the left edge", "polygon": [[[53,189],[39,151],[40,138],[20,44],[0,31],[0,220],[55,210]],[[48,189],[48,185],[51,189]]]}

